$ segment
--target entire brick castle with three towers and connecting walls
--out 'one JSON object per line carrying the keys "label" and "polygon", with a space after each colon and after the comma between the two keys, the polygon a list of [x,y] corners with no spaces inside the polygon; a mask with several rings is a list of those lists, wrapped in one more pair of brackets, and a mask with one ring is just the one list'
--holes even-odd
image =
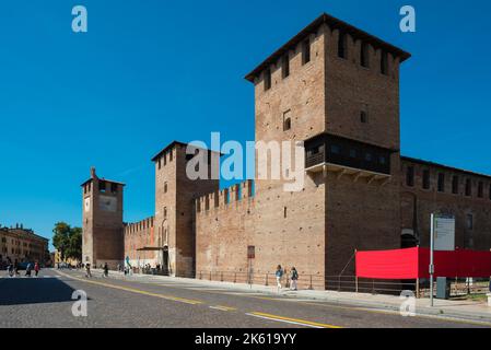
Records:
{"label": "entire brick castle with three towers and connecting walls", "polygon": [[256,141],[304,141],[303,190],[285,192],[285,179],[221,190],[192,182],[186,144],[173,142],[152,159],[152,218],[122,222],[120,183],[93,172],[82,185],[84,261],[128,258],[224,280],[262,279],[281,264],[327,288],[329,277],[353,276],[355,249],[429,246],[435,211],[455,215],[457,247],[489,250],[491,177],[400,154],[399,67],[409,58],[323,14],[246,77]]}

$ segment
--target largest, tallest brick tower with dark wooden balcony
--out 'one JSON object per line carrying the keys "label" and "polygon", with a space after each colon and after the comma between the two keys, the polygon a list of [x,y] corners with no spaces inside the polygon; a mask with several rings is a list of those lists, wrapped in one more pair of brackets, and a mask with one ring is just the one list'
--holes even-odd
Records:
{"label": "largest, tallest brick tower with dark wooden balcony", "polygon": [[256,141],[305,144],[303,191],[257,182],[256,269],[352,275],[355,248],[400,246],[399,63],[409,57],[323,14],[246,77]]}

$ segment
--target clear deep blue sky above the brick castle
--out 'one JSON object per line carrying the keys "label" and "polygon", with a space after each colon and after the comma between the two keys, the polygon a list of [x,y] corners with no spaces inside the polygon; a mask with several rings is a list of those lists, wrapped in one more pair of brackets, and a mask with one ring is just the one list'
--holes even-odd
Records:
{"label": "clear deep blue sky above the brick castle", "polygon": [[[71,31],[84,4],[89,33]],[[399,9],[417,10],[416,34]],[[3,1],[0,223],[81,224],[91,165],[127,183],[125,220],[153,214],[150,159],[169,141],[254,140],[243,77],[322,12],[413,54],[402,153],[491,174],[489,1]]]}

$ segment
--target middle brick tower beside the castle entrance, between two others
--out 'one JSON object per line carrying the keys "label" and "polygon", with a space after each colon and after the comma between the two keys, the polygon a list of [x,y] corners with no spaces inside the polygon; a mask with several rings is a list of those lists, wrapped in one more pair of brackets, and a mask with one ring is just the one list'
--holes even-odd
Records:
{"label": "middle brick tower beside the castle entrance, between two others", "polygon": [[[173,276],[192,277],[196,270],[195,199],[219,189],[218,179],[190,179],[186,174],[187,144],[173,142],[156,154],[154,230],[160,261]],[[211,170],[209,152],[208,174]]]}

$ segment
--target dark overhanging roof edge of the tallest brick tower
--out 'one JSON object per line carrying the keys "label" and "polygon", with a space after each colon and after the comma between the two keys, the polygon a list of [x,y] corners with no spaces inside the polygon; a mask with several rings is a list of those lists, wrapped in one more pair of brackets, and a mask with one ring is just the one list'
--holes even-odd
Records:
{"label": "dark overhanging roof edge of the tallest brick tower", "polygon": [[367,40],[372,46],[374,47],[382,47],[388,52],[395,54],[397,57],[400,57],[400,62],[404,62],[405,60],[409,59],[411,57],[411,54],[391,45],[387,42],[369,34],[362,30],[356,28],[355,26],[338,20],[327,13],[323,13],[320,16],[318,16],[314,22],[308,24],[305,28],[303,28],[299,34],[296,34],[292,39],[290,39],[287,44],[284,44],[282,47],[280,47],[274,54],[269,56],[262,63],[260,63],[258,67],[256,67],[252,72],[249,72],[245,79],[249,82],[254,82],[254,78],[256,78],[262,70],[265,70],[269,65],[276,62],[281,56],[284,55],[289,49],[296,46],[300,42],[304,39],[304,37],[315,31],[322,25],[327,24],[331,28],[343,28],[348,34],[351,34],[355,38],[363,38]]}

